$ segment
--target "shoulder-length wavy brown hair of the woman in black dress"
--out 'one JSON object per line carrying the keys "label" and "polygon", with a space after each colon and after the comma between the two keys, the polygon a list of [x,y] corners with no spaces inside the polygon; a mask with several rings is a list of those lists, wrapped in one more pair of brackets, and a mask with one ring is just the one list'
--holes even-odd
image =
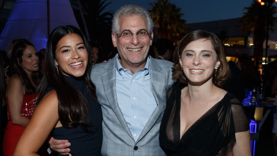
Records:
{"label": "shoulder-length wavy brown hair of the woman in black dress", "polygon": [[[229,65],[226,60],[226,54],[224,52],[224,47],[218,37],[211,32],[204,30],[195,30],[187,34],[181,42],[178,44],[174,51],[174,67],[172,68],[172,79],[178,80],[181,84],[188,84],[188,80],[184,72],[182,72],[182,67],[179,62],[179,57],[181,57],[186,46],[196,40],[205,39],[212,42],[213,48],[216,51],[217,59],[220,61],[220,65],[217,71],[214,70],[213,83],[217,87],[222,87],[223,84],[228,80],[230,76]],[[182,73],[182,74],[181,74]],[[215,76],[216,73],[216,76]]]}

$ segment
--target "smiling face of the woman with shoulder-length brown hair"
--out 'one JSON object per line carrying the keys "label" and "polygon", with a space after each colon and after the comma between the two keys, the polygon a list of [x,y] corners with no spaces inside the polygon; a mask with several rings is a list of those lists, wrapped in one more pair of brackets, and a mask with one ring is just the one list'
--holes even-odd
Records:
{"label": "smiling face of the woman with shoulder-length brown hair", "polygon": [[212,42],[204,39],[190,42],[179,61],[188,83],[200,85],[206,81],[212,81],[214,69],[220,65]]}

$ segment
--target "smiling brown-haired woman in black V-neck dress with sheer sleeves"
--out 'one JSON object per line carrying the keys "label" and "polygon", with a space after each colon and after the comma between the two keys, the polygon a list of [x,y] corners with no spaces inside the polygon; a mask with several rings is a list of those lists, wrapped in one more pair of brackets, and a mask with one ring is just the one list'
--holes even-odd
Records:
{"label": "smiling brown-haired woman in black V-neck dress with sheer sleeves", "polygon": [[229,77],[223,46],[213,33],[187,34],[175,50],[173,78],[160,126],[166,155],[250,156],[242,103],[221,89]]}

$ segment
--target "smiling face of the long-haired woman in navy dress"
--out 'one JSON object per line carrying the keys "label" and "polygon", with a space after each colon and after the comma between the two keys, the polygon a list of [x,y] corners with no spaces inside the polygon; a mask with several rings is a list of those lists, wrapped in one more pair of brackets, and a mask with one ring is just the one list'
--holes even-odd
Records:
{"label": "smiling face of the long-haired woman in navy dress", "polygon": [[81,77],[87,68],[87,50],[81,36],[68,34],[61,38],[56,47],[56,65],[63,75]]}

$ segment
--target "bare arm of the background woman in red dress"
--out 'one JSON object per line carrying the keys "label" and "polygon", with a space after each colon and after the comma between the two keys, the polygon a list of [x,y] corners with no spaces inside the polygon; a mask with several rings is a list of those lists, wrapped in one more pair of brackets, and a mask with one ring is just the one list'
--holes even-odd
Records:
{"label": "bare arm of the background woman in red dress", "polygon": [[21,115],[24,86],[18,75],[13,75],[7,86],[9,112],[14,125],[26,127],[30,119]]}

